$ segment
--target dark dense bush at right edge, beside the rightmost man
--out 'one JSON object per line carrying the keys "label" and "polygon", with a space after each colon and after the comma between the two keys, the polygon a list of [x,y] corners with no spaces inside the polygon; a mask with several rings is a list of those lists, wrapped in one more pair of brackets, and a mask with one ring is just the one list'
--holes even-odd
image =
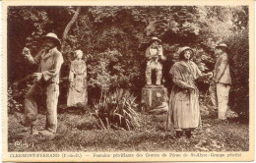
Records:
{"label": "dark dense bush at right edge, beside the rightmost man", "polygon": [[248,29],[234,33],[226,40],[232,86],[229,106],[240,119],[249,120],[249,39]]}

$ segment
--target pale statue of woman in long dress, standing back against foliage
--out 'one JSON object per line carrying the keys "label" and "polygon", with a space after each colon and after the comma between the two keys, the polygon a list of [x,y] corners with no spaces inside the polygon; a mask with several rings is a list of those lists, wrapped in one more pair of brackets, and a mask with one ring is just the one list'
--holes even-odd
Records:
{"label": "pale statue of woman in long dress, standing back against foliage", "polygon": [[85,106],[88,102],[87,96],[87,66],[82,60],[83,52],[76,50],[76,59],[71,62],[67,106]]}

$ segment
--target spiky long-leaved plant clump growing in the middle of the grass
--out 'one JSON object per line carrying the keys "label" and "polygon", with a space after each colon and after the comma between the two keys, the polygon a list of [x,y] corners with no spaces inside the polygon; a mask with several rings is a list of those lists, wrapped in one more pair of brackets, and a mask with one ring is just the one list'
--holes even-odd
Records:
{"label": "spiky long-leaved plant clump growing in the middle of the grass", "polygon": [[136,97],[129,91],[116,89],[107,93],[95,105],[96,124],[100,129],[132,130],[140,126],[140,118],[135,102]]}

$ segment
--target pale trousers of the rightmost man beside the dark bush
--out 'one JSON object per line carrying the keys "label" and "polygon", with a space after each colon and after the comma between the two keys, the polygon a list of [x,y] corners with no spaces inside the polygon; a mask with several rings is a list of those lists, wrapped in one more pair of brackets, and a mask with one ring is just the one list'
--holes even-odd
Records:
{"label": "pale trousers of the rightmost man beside the dark bush", "polygon": [[225,83],[217,83],[217,101],[218,101],[218,117],[221,120],[226,119],[226,110],[228,108],[228,94],[230,85]]}

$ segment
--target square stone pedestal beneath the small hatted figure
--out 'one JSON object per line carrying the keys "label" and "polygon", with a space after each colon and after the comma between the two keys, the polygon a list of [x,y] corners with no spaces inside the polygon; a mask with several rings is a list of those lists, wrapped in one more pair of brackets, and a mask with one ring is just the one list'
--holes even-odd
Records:
{"label": "square stone pedestal beneath the small hatted figure", "polygon": [[146,111],[152,110],[166,102],[167,88],[163,85],[146,85],[142,88],[142,104]]}

